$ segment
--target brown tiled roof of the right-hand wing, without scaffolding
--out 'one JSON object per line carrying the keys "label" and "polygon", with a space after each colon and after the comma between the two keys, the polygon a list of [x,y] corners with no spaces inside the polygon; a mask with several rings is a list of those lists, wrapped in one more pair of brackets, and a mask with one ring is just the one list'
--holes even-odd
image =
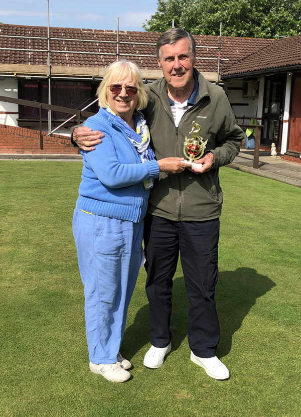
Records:
{"label": "brown tiled roof of the right-hand wing, without scaffolding", "polygon": [[229,65],[222,76],[301,65],[301,35],[280,39]]}

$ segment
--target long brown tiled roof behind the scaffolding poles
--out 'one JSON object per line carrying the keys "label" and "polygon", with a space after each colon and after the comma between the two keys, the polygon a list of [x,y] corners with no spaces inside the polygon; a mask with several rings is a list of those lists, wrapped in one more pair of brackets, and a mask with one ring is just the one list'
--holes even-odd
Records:
{"label": "long brown tiled roof behind the scaffolding poles", "polygon": [[[0,24],[0,35],[9,36],[0,36],[0,47],[11,49],[0,50],[0,63],[47,65],[47,39],[34,39],[35,37],[47,38],[46,27]],[[156,44],[160,35],[160,33],[120,31],[120,57],[133,60],[141,69],[158,69],[157,60],[154,57],[155,45],[141,44]],[[31,39],[16,36],[31,37]],[[51,65],[53,66],[106,67],[116,59],[116,31],[50,28],[50,38],[58,38],[50,41],[50,49],[63,51],[51,52]],[[197,46],[215,47],[197,48],[197,58],[207,59],[197,59],[196,68],[202,72],[217,72],[218,50],[216,48],[219,44],[219,37],[195,35],[194,38]],[[80,42],[80,40],[85,40],[85,42]],[[220,70],[273,43],[275,41],[270,39],[223,36]],[[12,50],[13,48],[27,49],[27,51],[15,51]],[[35,49],[45,52],[33,51]],[[71,51],[85,52],[85,54],[70,53]]]}

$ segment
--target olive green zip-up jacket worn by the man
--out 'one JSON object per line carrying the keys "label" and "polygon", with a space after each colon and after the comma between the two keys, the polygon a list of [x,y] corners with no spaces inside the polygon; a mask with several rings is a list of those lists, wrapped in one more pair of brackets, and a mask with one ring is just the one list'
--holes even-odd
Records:
{"label": "olive green zip-up jacket worn by the man", "polygon": [[228,98],[221,87],[212,84],[196,71],[199,95],[196,104],[175,126],[167,95],[167,82],[161,78],[147,85],[148,105],[143,113],[150,130],[150,146],[157,160],[184,157],[185,136],[192,137],[193,120],[202,127],[207,142],[205,153],[212,152],[214,164],[204,174],[186,169],[181,174],[160,173],[150,190],[148,213],[174,221],[203,221],[218,218],[223,202],[219,184],[219,167],[230,164],[238,155],[243,131],[237,126]]}

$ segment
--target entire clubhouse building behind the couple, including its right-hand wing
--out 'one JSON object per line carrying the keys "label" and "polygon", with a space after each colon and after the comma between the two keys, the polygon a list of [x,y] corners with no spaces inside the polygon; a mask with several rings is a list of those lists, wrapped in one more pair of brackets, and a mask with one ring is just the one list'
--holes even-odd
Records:
{"label": "entire clubhouse building behind the couple, including its right-hand wing", "polygon": [[[48,39],[46,27],[0,24],[0,96],[48,103],[51,85],[51,104],[83,109],[95,100],[105,68],[116,59],[133,60],[145,82],[162,77],[155,55],[159,36],[50,28]],[[262,121],[261,145],[270,147],[275,142],[283,157],[299,159],[301,36],[281,40],[221,37],[221,49],[218,36],[194,38],[196,68],[207,80],[223,86],[237,121]],[[97,105],[87,110],[96,112]],[[0,100],[2,124],[38,129],[38,113],[38,108]],[[70,115],[52,111],[51,116],[53,130]],[[43,110],[45,131],[47,118],[48,111]],[[69,121],[57,132],[68,135],[74,123]]]}

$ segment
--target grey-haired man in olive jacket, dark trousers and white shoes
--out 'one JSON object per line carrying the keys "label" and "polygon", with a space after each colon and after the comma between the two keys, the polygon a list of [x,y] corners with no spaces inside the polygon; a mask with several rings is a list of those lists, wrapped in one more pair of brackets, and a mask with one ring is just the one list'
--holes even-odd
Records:
{"label": "grey-haired man in olive jacket, dark trousers and white shoes", "polygon": [[[157,369],[171,351],[173,276],[180,253],[190,303],[191,360],[212,378],[228,379],[227,367],[216,357],[220,328],[214,295],[223,201],[218,169],[238,154],[243,132],[223,89],[194,68],[196,44],[189,33],[168,30],[159,38],[156,54],[164,77],[148,85],[149,102],[143,113],[157,159],[184,156],[185,137],[192,136],[193,122],[202,127],[207,143],[204,156],[197,161],[199,168],[161,173],[150,193],[144,245],[152,346],[143,363]],[[73,133],[85,150],[100,143],[100,137],[100,132],[87,128],[78,127]]]}

